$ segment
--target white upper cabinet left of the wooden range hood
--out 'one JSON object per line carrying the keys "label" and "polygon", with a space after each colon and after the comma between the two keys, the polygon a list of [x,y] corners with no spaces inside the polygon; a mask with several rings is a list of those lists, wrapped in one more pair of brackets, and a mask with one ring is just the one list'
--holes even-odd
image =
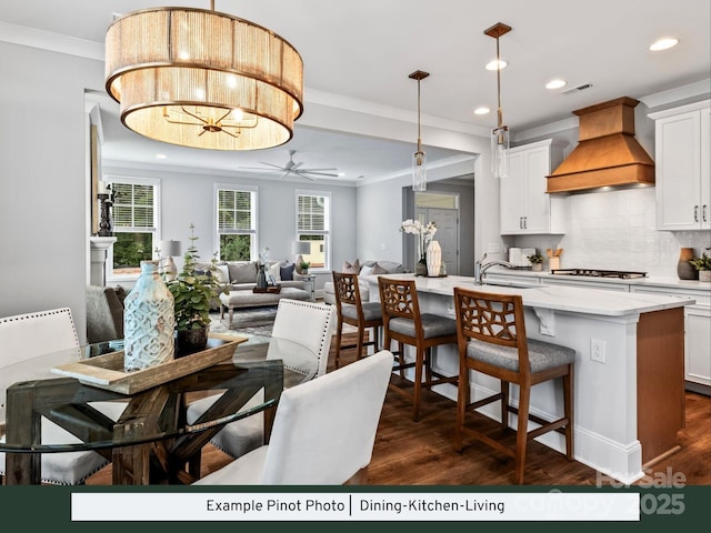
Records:
{"label": "white upper cabinet left of the wooden range hood", "polygon": [[500,183],[502,235],[565,232],[564,198],[545,192],[545,177],[562,155],[550,139],[509,150],[509,178]]}

